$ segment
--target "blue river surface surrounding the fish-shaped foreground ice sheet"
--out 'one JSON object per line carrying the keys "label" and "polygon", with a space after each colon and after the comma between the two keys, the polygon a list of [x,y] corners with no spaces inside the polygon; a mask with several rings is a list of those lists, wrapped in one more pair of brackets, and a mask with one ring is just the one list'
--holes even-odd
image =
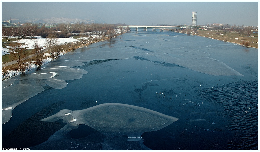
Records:
{"label": "blue river surface surrounding the fish-shaped foreground ice sheet", "polygon": [[[2,109],[30,98],[17,104],[12,118],[2,124],[1,148],[259,149],[258,49],[181,33],[138,31],[77,49],[41,68],[2,81]],[[67,123],[41,119],[102,103],[144,107],[179,120],[144,132],[139,141],[107,137],[85,124],[48,140]]]}

